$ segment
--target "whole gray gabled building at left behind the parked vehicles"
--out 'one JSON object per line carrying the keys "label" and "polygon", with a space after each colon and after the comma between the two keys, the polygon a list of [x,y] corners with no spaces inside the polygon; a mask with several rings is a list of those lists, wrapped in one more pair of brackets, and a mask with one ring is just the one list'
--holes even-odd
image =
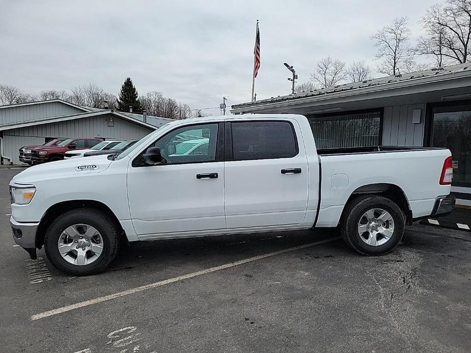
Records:
{"label": "whole gray gabled building at left behind the parked vehicles", "polygon": [[58,137],[138,139],[171,121],[81,107],[59,99],[4,105],[0,106],[0,162],[20,163],[18,150],[22,146],[40,145]]}

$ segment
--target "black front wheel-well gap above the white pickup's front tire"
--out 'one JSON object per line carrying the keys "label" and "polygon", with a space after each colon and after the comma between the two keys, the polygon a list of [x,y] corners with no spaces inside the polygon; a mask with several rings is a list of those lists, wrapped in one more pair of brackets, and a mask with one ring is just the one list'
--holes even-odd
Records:
{"label": "black front wheel-well gap above the white pickup's front tire", "polygon": [[46,231],[54,220],[56,220],[59,216],[68,211],[84,207],[100,210],[112,217],[112,219],[121,229],[123,240],[127,242],[127,238],[125,236],[125,232],[120,221],[118,220],[114,212],[106,204],[96,200],[69,200],[53,204],[44,213],[36,231],[36,248],[40,249],[44,245],[44,237],[46,236]]}

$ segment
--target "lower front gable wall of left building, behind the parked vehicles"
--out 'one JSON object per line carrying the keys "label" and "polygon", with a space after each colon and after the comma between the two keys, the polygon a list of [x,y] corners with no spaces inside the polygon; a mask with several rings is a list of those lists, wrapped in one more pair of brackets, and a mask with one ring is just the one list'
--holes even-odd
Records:
{"label": "lower front gable wall of left building, behind the parked vehicles", "polygon": [[[41,124],[4,131],[3,154],[19,163],[18,149],[24,145],[42,144],[45,137],[102,137],[105,139],[140,139],[154,131],[120,117],[113,116],[114,126],[107,126],[112,115],[98,115],[58,123]],[[5,161],[5,163],[7,163]]]}

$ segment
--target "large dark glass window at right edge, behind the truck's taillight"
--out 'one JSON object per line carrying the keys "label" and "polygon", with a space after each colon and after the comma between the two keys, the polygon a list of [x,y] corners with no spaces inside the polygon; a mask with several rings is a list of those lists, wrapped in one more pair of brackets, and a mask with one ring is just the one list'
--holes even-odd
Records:
{"label": "large dark glass window at right edge, behind the truck's taillight", "polygon": [[453,185],[471,187],[471,105],[432,108],[430,145],[453,155]]}

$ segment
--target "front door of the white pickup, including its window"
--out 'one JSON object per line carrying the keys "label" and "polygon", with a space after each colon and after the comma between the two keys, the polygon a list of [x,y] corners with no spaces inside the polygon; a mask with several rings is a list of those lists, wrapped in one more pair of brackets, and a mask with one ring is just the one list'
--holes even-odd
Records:
{"label": "front door of the white pickup, including its window", "polygon": [[144,151],[130,163],[129,209],[141,239],[226,229],[223,124],[175,128],[149,146],[165,163],[144,164]]}

